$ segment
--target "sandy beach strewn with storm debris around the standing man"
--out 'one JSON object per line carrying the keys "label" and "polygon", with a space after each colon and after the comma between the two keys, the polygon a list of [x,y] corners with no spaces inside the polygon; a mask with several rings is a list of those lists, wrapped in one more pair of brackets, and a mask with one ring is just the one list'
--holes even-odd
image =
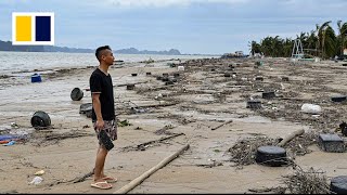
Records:
{"label": "sandy beach strewn with storm debris around the standing man", "polygon": [[[256,66],[256,61],[262,64]],[[117,119],[130,126],[118,127],[118,140],[107,156],[105,172],[118,182],[106,191],[91,187],[90,177],[76,182],[93,169],[98,147],[91,119],[79,114],[80,105],[91,102],[89,76],[95,66],[49,72],[36,83],[0,78],[0,134],[28,133],[14,145],[0,145],[0,193],[114,193],[185,144],[188,151],[129,193],[244,194],[277,188],[284,186],[281,181],[293,173],[292,166],[240,166],[231,160],[230,148],[243,139],[277,140],[301,129],[305,133],[335,132],[347,119],[346,101],[331,101],[332,95],[346,95],[347,67],[340,63],[293,65],[287,58],[159,63],[163,65],[125,64],[110,69]],[[138,75],[131,76],[134,73]],[[176,78],[172,84],[157,79],[166,73]],[[288,81],[282,80],[284,76]],[[136,84],[133,90],[127,90],[129,83]],[[80,101],[70,99],[74,88],[83,91]],[[262,99],[264,91],[274,91],[277,96]],[[247,108],[250,99],[260,100],[261,108]],[[305,103],[320,105],[322,113],[303,113]],[[37,110],[49,114],[51,128],[31,127]],[[230,119],[232,122],[211,130]],[[340,131],[335,133],[345,139]],[[168,139],[158,141],[163,138]],[[291,153],[300,168],[321,170],[329,180],[347,174],[346,153],[323,152],[314,141],[307,147],[297,142],[285,148],[303,146],[301,155]],[[29,184],[40,170],[44,170],[43,181]]]}

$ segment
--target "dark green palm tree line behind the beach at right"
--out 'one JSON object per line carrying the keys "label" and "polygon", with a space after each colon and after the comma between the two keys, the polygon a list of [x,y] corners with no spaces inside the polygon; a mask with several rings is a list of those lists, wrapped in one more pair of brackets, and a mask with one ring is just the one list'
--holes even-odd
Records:
{"label": "dark green palm tree line behind the beach at right", "polygon": [[[300,32],[296,36],[303,43],[304,53],[308,56],[319,56],[322,58],[343,55],[347,49],[347,22],[337,21],[338,31],[332,28],[332,22],[316,25],[316,29],[310,32]],[[294,47],[294,39],[282,39],[279,36],[266,37],[260,42],[252,41],[250,53],[262,53],[266,56],[290,57]]]}

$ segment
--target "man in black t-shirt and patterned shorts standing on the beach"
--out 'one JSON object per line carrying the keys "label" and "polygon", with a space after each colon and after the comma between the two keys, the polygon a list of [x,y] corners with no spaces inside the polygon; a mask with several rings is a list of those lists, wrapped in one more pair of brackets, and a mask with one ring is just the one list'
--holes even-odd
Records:
{"label": "man in black t-shirt and patterned shorts standing on the beach", "polygon": [[115,121],[115,104],[113,94],[113,82],[108,74],[108,67],[114,63],[114,56],[108,46],[100,47],[95,51],[100,63],[99,67],[91,74],[89,83],[92,98],[92,122],[99,140],[94,167],[94,182],[91,184],[98,188],[111,188],[116,179],[104,174],[104,165],[108,151],[101,139],[101,131],[105,131],[108,138],[117,140],[117,122]]}

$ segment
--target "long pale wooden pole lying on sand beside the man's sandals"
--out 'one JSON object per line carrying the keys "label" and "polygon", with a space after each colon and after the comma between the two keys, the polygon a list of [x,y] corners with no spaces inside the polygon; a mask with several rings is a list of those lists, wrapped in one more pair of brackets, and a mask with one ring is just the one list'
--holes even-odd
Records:
{"label": "long pale wooden pole lying on sand beside the man's sandals", "polygon": [[154,166],[153,168],[151,168],[150,170],[145,171],[144,173],[142,173],[140,177],[136,178],[134,180],[132,180],[130,183],[128,183],[127,185],[123,186],[121,188],[119,188],[118,191],[114,192],[114,194],[126,194],[129,191],[131,191],[132,188],[134,188],[137,185],[139,185],[140,183],[142,183],[146,178],[149,178],[151,174],[153,174],[155,171],[157,171],[158,169],[163,168],[164,166],[166,166],[168,162],[170,162],[172,159],[177,158],[182,152],[184,152],[185,150],[189,148],[189,144],[184,145],[183,147],[181,147],[179,151],[177,151],[176,153],[174,153],[172,155],[168,156],[167,158],[165,158],[164,160],[162,160],[158,165]]}

